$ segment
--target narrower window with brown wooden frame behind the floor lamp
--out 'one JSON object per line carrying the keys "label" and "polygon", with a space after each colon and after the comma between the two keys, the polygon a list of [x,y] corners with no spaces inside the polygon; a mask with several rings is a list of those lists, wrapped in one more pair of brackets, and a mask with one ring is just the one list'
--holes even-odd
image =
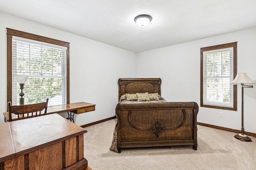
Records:
{"label": "narrower window with brown wooden frame behind the floor lamp", "polygon": [[236,111],[237,42],[201,48],[201,107]]}

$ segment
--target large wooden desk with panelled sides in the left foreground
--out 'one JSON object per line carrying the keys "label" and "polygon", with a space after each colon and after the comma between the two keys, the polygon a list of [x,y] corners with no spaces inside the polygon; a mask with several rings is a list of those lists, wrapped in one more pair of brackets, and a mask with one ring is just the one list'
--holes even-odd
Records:
{"label": "large wooden desk with panelled sides in the left foreground", "polygon": [[86,169],[84,128],[58,114],[0,124],[0,170]]}

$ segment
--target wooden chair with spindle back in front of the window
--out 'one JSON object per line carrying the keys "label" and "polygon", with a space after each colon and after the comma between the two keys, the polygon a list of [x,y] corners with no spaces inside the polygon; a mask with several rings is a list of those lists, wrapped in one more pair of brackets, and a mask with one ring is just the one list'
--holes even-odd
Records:
{"label": "wooden chair with spindle back in front of the window", "polygon": [[[36,104],[30,104],[30,105],[17,105],[17,106],[12,106],[12,103],[9,101],[8,102],[9,122],[46,115],[48,100],[49,99],[47,98],[46,102],[43,102],[43,103],[36,103]],[[43,110],[44,112],[42,112]],[[16,116],[12,117],[14,116],[13,114],[15,114]]]}

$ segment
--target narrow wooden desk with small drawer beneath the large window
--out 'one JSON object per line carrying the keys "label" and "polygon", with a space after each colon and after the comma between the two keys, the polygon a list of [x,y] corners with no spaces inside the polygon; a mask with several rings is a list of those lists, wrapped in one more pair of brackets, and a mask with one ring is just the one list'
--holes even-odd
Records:
{"label": "narrow wooden desk with small drawer beneath the large window", "polygon": [[[47,108],[47,115],[52,113],[61,113],[61,112],[68,112],[68,120],[74,122],[74,114],[81,114],[85,112],[95,111],[95,104],[86,103],[86,102],[78,102],[78,103],[70,103],[66,105],[56,105],[56,106],[49,106]],[[15,117],[14,119],[15,120]],[[8,112],[4,113],[4,121],[9,121]]]}

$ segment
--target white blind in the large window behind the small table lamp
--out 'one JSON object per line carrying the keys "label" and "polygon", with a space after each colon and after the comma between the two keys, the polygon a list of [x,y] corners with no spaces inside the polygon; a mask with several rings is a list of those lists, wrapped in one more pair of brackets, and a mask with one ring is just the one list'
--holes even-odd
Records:
{"label": "white blind in the large window behind the small table lamp", "polygon": [[12,103],[19,105],[20,85],[17,75],[27,76],[24,104],[45,102],[48,106],[66,104],[66,47],[13,38]]}

